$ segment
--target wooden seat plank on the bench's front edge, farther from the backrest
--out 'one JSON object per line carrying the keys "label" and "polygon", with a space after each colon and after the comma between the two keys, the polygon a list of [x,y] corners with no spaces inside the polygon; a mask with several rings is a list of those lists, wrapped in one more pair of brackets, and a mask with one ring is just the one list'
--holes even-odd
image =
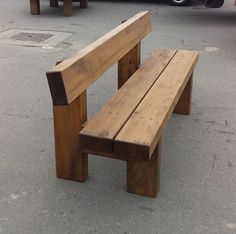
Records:
{"label": "wooden seat plank on the bench's front edge, farther from the backrest", "polygon": [[114,141],[114,154],[149,160],[197,62],[178,51]]}

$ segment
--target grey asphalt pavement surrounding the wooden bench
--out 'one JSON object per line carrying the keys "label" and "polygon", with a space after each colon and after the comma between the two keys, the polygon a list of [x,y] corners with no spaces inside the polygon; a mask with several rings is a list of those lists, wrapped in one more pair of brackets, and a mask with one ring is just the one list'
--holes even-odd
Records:
{"label": "grey asphalt pavement surrounding the wooden bench", "polygon": [[[87,9],[74,7],[72,17],[41,2],[38,16],[30,15],[28,0],[0,2],[0,233],[236,233],[233,1],[221,9],[194,0],[183,8],[165,1],[89,1]],[[142,10],[150,10],[153,20],[143,59],[157,47],[200,52],[192,114],[174,115],[163,137],[157,199],[126,193],[126,165],[120,161],[90,156],[84,184],[55,177],[45,76],[57,60]],[[2,32],[14,29],[68,34],[41,46],[1,41]],[[89,90],[90,116],[115,89],[116,67]]]}

